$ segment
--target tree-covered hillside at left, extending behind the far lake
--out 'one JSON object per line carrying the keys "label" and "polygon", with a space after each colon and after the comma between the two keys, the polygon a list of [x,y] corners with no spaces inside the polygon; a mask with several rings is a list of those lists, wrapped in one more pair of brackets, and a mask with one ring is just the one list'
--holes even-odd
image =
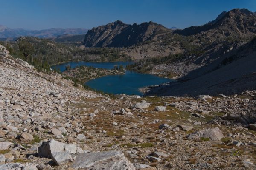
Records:
{"label": "tree-covered hillside at left, extending behind the far lake", "polygon": [[130,60],[119,48],[79,48],[37,37],[20,37],[16,41],[2,41],[0,44],[5,45],[13,57],[23,59],[39,70],[71,60]]}

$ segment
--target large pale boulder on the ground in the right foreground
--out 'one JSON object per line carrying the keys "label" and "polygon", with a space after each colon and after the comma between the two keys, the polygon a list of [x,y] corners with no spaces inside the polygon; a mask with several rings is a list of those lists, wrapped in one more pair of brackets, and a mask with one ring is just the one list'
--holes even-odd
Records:
{"label": "large pale boulder on the ground in the right foreground", "polygon": [[188,139],[201,138],[201,137],[209,138],[215,141],[218,141],[224,138],[221,130],[218,127],[215,127],[213,129],[200,130],[188,135]]}

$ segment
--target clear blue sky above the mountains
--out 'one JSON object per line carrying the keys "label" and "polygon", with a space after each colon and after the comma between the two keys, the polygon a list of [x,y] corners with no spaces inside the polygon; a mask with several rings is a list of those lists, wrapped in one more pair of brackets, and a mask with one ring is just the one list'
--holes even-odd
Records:
{"label": "clear blue sky above the mountains", "polygon": [[247,8],[256,0],[1,0],[0,25],[9,28],[93,28],[122,20],[154,21],[186,28],[214,20],[222,11]]}

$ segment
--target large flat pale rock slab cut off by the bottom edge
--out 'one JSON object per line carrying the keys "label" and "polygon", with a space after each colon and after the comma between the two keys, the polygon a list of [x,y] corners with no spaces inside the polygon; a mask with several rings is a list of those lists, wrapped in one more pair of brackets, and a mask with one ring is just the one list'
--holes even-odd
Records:
{"label": "large flat pale rock slab cut off by the bottom edge", "polygon": [[135,167],[125,158],[121,151],[81,153],[76,156],[71,166],[75,170],[88,168],[90,170],[135,170]]}

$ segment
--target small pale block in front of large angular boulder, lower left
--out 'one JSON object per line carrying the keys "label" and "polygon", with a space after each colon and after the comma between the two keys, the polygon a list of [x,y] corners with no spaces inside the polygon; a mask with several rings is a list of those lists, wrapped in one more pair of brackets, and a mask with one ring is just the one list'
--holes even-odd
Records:
{"label": "small pale block in front of large angular boulder, lower left", "polygon": [[54,152],[52,153],[51,158],[52,158],[52,161],[57,165],[61,165],[61,164],[65,164],[67,162],[73,161],[69,151]]}

